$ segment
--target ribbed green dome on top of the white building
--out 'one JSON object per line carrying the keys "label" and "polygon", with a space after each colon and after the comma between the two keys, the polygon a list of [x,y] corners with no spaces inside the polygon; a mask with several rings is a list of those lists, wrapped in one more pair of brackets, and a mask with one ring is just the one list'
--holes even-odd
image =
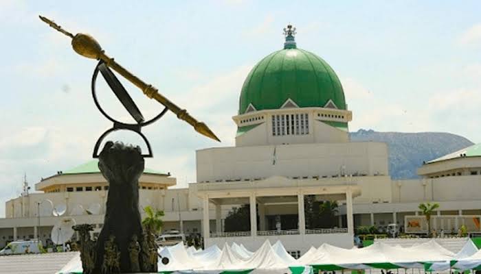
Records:
{"label": "ribbed green dome on top of the white building", "polygon": [[256,110],[279,109],[287,99],[300,108],[323,108],[332,100],[346,110],[341,82],[326,61],[286,39],[284,49],[260,60],[244,81],[238,114],[251,103]]}

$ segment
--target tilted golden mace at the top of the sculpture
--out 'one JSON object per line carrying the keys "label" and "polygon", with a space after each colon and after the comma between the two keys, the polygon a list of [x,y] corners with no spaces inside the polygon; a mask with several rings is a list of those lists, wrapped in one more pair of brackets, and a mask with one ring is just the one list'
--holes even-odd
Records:
{"label": "tilted golden mace at the top of the sculpture", "polygon": [[67,32],[65,29],[60,27],[60,25],[54,23],[54,21],[49,20],[44,16],[39,15],[38,17],[40,17],[41,20],[47,23],[50,27],[58,30],[58,32],[61,32],[66,36],[72,38],[71,45],[74,48],[74,51],[76,51],[76,53],[87,58],[102,60],[103,62],[105,62],[105,64],[107,64],[107,66],[111,67],[111,69],[117,71],[129,82],[140,88],[140,90],[142,90],[142,92],[144,92],[147,97],[149,97],[150,99],[155,99],[166,108],[168,108],[168,110],[174,112],[177,115],[177,118],[186,121],[187,123],[192,125],[192,127],[194,127],[197,132],[219,142],[221,141],[219,140],[219,138],[217,138],[214,132],[212,132],[209,127],[205,125],[205,123],[199,122],[194,119],[194,117],[190,116],[190,114],[188,114],[186,110],[179,108],[175,103],[172,103],[169,99],[164,97],[164,95],[161,95],[157,88],[152,85],[146,84],[144,81],[139,79],[139,77],[133,75],[130,71],[124,69],[124,67],[120,66],[120,64],[115,62],[113,58],[110,58],[107,54],[105,54],[104,50],[102,50],[102,47],[100,47],[100,44],[92,36],[90,36],[89,34],[71,34],[70,32]]}

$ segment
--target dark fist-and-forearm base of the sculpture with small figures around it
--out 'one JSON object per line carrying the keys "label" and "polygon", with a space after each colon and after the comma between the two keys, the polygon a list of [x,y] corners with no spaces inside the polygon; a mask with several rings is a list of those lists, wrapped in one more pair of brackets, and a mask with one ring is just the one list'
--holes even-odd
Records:
{"label": "dark fist-and-forearm base of the sculpture with small figures around it", "polygon": [[139,213],[139,177],[144,171],[139,147],[107,142],[98,167],[109,182],[102,231],[93,242],[91,225],[74,227],[80,234],[83,273],[156,273],[155,236],[143,231]]}

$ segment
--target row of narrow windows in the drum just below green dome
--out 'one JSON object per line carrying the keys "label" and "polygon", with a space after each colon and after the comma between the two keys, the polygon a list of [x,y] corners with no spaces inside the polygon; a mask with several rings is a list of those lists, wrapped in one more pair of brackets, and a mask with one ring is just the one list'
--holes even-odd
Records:
{"label": "row of narrow windows in the drum just below green dome", "polygon": [[302,114],[272,115],[272,136],[309,134],[309,116]]}

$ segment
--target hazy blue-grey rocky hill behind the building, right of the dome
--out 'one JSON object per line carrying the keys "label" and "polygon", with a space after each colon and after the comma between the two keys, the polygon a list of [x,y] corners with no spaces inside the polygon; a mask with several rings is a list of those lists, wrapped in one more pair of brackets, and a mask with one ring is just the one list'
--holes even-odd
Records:
{"label": "hazy blue-grey rocky hill behind the building, right of the dome", "polygon": [[416,169],[423,161],[473,145],[467,138],[445,132],[374,132],[372,129],[350,132],[350,140],[387,143],[389,171],[393,179],[417,178]]}

